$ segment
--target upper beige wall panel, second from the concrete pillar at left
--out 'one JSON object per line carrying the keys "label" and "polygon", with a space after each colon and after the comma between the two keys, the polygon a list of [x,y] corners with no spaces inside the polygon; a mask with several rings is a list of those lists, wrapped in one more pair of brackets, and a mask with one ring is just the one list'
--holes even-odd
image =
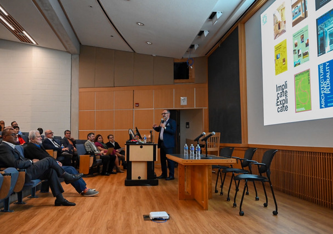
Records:
{"label": "upper beige wall panel, second from the concrete pillar at left", "polygon": [[114,87],[115,51],[96,47],[95,87]]}

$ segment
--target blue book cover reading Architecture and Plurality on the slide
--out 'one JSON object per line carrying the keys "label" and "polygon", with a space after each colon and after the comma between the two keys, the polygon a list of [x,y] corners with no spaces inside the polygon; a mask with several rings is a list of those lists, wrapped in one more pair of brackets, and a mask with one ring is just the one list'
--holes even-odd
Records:
{"label": "blue book cover reading Architecture and Plurality on the slide", "polygon": [[333,67],[333,60],[318,65],[320,109],[333,107],[331,67]]}

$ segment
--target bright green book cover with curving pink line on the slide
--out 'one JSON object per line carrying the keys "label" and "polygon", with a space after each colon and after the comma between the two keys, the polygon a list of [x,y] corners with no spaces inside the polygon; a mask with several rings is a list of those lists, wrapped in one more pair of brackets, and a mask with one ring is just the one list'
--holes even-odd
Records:
{"label": "bright green book cover with curving pink line on the slide", "polygon": [[310,69],[294,76],[296,113],[311,110]]}

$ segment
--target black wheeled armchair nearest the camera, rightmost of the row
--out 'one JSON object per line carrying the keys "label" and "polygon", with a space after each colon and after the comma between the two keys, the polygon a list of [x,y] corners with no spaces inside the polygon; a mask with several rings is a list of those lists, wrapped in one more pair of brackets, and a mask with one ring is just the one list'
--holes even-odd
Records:
{"label": "black wheeled armchair nearest the camera, rightmost of the row", "polygon": [[[267,199],[267,193],[266,193],[266,189],[265,189],[265,182],[268,182],[272,191],[272,195],[273,195],[273,199],[274,199],[274,203],[275,203],[275,210],[273,211],[273,215],[277,215],[277,203],[276,203],[276,199],[275,199],[275,195],[274,195],[274,190],[273,190],[273,186],[272,186],[272,182],[270,180],[270,164],[273,160],[273,157],[275,155],[275,153],[277,152],[277,149],[270,149],[267,150],[264,155],[262,156],[262,161],[261,163],[257,162],[257,161],[253,161],[253,160],[248,160],[250,162],[250,164],[255,164],[258,165],[258,171],[259,171],[259,175],[255,175],[255,174],[240,174],[240,175],[236,175],[234,177],[235,181],[238,181],[237,183],[237,188],[236,188],[236,193],[235,193],[235,197],[234,197],[234,203],[233,203],[233,207],[236,207],[236,196],[237,196],[237,191],[239,188],[239,182],[241,180],[245,181],[245,185],[244,185],[244,190],[243,190],[243,195],[242,195],[242,199],[240,201],[240,205],[239,205],[239,215],[243,216],[244,215],[244,211],[242,211],[242,203],[243,203],[243,199],[244,199],[244,193],[245,193],[245,188],[247,187],[247,182],[248,181],[260,181],[262,183],[262,186],[264,188],[264,193],[265,193],[265,197],[266,197],[266,202],[263,204],[264,207],[267,207],[268,205],[268,199]],[[266,173],[266,176],[262,176],[263,173]],[[257,200],[257,199],[256,199]]]}

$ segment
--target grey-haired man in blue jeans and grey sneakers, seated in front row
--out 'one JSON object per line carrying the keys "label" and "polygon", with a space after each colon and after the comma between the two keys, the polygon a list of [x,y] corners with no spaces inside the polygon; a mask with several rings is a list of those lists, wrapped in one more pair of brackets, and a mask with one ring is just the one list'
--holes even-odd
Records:
{"label": "grey-haired man in blue jeans and grey sneakers, seated in front row", "polygon": [[[42,137],[37,130],[32,130],[29,132],[29,143],[24,147],[24,156],[29,159],[39,159],[51,157],[42,145]],[[55,160],[53,157],[51,157]],[[62,166],[61,162],[57,161],[57,163],[69,174],[79,174],[77,170],[75,170],[72,166]],[[78,193],[83,196],[90,197],[98,194],[98,191],[95,189],[89,189],[86,187],[86,182],[80,178],[77,181],[71,183],[72,186],[76,189]]]}

